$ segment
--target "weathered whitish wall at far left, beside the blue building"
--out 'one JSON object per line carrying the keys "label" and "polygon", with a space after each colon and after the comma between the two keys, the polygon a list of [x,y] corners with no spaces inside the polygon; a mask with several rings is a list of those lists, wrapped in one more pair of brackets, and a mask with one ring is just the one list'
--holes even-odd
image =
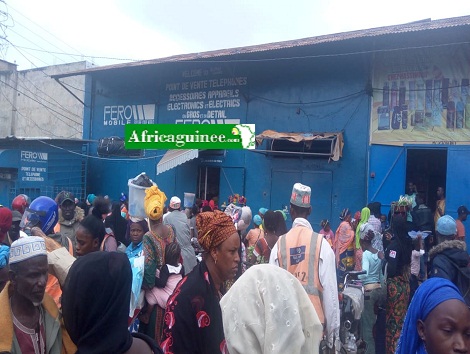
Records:
{"label": "weathered whitish wall at far left, beside the blue building", "polygon": [[[10,72],[2,71],[2,65]],[[83,70],[91,64],[81,61],[18,71],[17,85],[12,67],[16,69],[15,65],[0,61],[0,137],[81,139],[83,104],[51,75]],[[60,81],[84,101],[84,75],[62,78]]]}

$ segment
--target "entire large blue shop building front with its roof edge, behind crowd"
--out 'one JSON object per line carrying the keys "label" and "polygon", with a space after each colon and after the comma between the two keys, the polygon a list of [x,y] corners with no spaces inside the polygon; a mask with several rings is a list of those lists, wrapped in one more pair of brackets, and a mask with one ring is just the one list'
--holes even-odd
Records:
{"label": "entire large blue shop building front with its roof edge, behind crowd", "polygon": [[[409,132],[412,138],[390,141],[398,131],[391,123],[385,132],[389,135],[374,135],[378,124],[374,97],[385,97],[386,92],[376,85],[376,69],[388,58],[377,53],[405,54],[418,44],[440,48],[449,35],[457,43],[469,33],[470,18],[464,17],[87,70],[90,95],[84,139],[92,141],[88,192],[117,199],[127,192],[130,178],[146,172],[168,198],[183,198],[190,192],[203,199],[218,197],[222,205],[238,193],[254,210],[285,209],[292,185],[302,182],[312,188],[310,221],[318,230],[320,220],[331,220],[335,228],[343,208],[360,210],[373,200],[380,201],[386,213],[412,178],[430,206],[435,203],[433,188],[444,184],[452,215],[458,205],[469,202],[461,193],[468,188],[468,173],[453,172],[470,169],[465,163],[470,156],[467,136],[455,141],[444,137],[436,144],[414,142],[410,127],[399,132]],[[465,63],[468,47],[463,52]],[[413,58],[409,56],[408,62]],[[468,68],[463,71],[468,73]],[[400,83],[399,76],[396,80]],[[459,87],[465,86],[462,82]],[[403,105],[411,103],[407,98]],[[394,105],[388,106],[387,114],[396,117]],[[405,110],[400,110],[400,117]],[[129,157],[121,146],[120,153],[106,154],[100,141],[123,138],[126,124],[220,123],[255,124],[256,134],[328,133],[342,139],[342,156],[332,158],[328,139],[322,146],[303,144],[307,153],[292,153],[300,151],[298,146],[268,139],[255,151],[207,150],[195,159],[181,154],[178,166],[157,174],[166,150],[145,150]],[[319,151],[327,153],[322,156]]]}

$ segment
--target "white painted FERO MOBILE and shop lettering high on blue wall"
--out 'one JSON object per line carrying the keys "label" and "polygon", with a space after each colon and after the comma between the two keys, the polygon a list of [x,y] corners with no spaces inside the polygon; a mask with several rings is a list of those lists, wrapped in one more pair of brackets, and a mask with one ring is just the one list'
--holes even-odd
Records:
{"label": "white painted FERO MOBILE and shop lettering high on blue wall", "polygon": [[223,66],[181,70],[151,88],[158,103],[127,98],[104,105],[102,126],[114,130],[127,124],[240,124],[246,116],[247,87],[247,76]]}

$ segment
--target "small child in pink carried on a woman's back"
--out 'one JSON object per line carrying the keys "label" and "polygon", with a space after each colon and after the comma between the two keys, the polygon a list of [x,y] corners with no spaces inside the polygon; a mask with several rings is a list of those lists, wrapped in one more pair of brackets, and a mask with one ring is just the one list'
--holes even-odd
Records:
{"label": "small child in pink carried on a woman's back", "polygon": [[149,306],[158,305],[166,309],[168,297],[173,294],[178,282],[183,279],[184,270],[180,263],[181,248],[178,242],[172,242],[165,247],[165,264],[157,270],[155,287],[145,292]]}

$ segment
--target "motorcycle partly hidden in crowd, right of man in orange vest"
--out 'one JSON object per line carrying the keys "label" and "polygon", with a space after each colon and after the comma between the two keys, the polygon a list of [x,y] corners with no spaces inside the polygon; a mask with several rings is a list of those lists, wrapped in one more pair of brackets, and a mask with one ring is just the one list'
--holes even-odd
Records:
{"label": "motorcycle partly hidden in crowd, right of man in orange vest", "polygon": [[340,305],[340,330],[341,353],[361,354],[365,353],[367,343],[360,339],[361,315],[364,311],[364,286],[358,280],[358,275],[366,274],[366,271],[346,272],[344,288],[339,293]]}

